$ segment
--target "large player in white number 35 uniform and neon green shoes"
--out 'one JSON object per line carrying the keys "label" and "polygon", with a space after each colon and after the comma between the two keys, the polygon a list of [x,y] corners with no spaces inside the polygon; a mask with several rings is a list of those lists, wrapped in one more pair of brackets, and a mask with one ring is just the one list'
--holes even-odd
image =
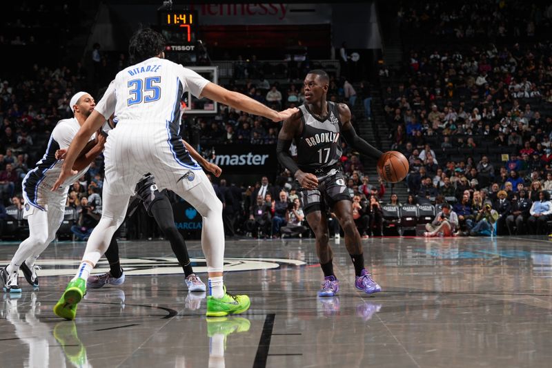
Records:
{"label": "large player in white number 35 uniform and neon green shoes", "polygon": [[75,318],[77,303],[86,291],[86,279],[123,222],[128,199],[145,173],[155,175],[160,189],[168,188],[185,197],[203,217],[201,246],[209,284],[207,316],[242,313],[249,308],[247,296],[230,296],[224,291],[222,204],[181,142],[180,101],[184,91],[189,90],[196,97],[208,97],[274,122],[290,117],[297,109],[278,113],[241,93],[217,86],[193,70],[165,60],[164,43],[164,38],[150,29],[139,30],[132,37],[129,54],[137,64],[117,74],[68,149],[57,184],[73,174],[72,163],[86,144],[87,135],[90,137],[115,113],[117,129],[108,137],[104,152],[103,213],[90,235],[75,278],[54,308],[63,318]]}

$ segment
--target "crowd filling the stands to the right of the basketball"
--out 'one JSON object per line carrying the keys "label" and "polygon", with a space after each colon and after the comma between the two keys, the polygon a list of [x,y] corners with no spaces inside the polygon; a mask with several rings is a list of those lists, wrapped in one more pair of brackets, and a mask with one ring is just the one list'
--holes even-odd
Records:
{"label": "crowd filling the stands to the right of the basketball", "polygon": [[408,193],[418,204],[449,203],[444,212],[457,217],[438,214],[426,235],[548,231],[551,213],[538,211],[552,188],[552,43],[538,36],[551,15],[520,1],[400,9],[404,37],[441,37],[408,46],[396,83],[383,76],[391,148],[411,167]]}

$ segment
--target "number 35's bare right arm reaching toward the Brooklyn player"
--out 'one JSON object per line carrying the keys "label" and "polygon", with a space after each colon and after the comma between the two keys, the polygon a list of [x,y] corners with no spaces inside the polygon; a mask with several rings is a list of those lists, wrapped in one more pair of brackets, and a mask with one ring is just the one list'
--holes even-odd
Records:
{"label": "number 35's bare right arm reaching toward the Brooklyn player", "polygon": [[243,110],[246,113],[266,117],[273,122],[280,122],[297,112],[297,108],[288,108],[287,110],[278,113],[277,111],[264,106],[259,101],[255,101],[255,99],[242,95],[242,93],[227,90],[226,88],[218,86],[214,83],[208,83],[203,88],[201,91],[201,97],[207,97],[208,99],[218,101],[221,104]]}

